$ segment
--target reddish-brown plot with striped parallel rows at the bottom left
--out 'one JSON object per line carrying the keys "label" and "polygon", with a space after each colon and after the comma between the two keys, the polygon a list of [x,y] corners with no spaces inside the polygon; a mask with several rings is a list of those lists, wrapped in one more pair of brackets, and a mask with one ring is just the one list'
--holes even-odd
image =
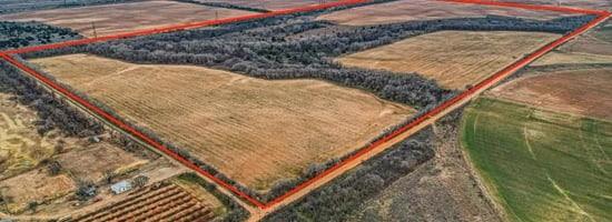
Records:
{"label": "reddish-brown plot with striped parallel rows at the bottom left", "polygon": [[150,185],[70,221],[211,221],[209,205],[172,183]]}

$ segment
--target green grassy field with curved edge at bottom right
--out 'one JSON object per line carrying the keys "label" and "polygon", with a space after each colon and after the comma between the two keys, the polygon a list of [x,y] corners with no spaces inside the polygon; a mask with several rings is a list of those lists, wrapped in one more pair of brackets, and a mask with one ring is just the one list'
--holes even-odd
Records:
{"label": "green grassy field with curved edge at bottom right", "polygon": [[612,122],[483,98],[461,137],[510,220],[612,221]]}

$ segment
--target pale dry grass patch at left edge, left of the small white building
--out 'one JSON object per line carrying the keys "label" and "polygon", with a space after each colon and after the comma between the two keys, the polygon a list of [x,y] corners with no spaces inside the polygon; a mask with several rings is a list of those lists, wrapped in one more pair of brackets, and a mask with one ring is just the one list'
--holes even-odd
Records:
{"label": "pale dry grass patch at left edge, left of the small white building", "polygon": [[75,182],[66,174],[49,176],[46,170],[32,170],[0,181],[0,196],[7,211],[21,213],[30,202],[51,201],[76,190]]}

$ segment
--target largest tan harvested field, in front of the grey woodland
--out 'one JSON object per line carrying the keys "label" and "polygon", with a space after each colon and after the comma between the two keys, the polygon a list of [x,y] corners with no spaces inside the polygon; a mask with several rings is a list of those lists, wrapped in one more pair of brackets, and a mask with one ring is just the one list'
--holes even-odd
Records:
{"label": "largest tan harvested field, in front of the grey woodland", "polygon": [[86,54],[32,62],[258,190],[354,151],[414,113],[361,90],[315,80],[268,81]]}

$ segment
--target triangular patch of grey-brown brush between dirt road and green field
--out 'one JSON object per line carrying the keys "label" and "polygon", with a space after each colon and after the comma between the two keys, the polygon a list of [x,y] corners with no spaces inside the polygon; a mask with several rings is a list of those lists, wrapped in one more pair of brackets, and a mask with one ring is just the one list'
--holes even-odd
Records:
{"label": "triangular patch of grey-brown brush between dirt road and green field", "polygon": [[431,138],[432,130],[423,130],[264,221],[345,221],[364,200],[432,159]]}

